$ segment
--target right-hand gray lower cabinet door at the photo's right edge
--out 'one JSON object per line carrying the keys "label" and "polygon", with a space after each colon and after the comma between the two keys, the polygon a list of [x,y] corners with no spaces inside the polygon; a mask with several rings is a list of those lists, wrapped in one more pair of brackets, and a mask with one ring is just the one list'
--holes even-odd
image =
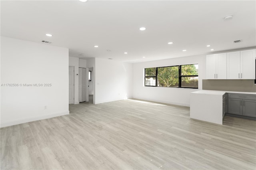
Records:
{"label": "right-hand gray lower cabinet door at the photo's right edge", "polygon": [[256,117],[256,100],[243,99],[243,115]]}

